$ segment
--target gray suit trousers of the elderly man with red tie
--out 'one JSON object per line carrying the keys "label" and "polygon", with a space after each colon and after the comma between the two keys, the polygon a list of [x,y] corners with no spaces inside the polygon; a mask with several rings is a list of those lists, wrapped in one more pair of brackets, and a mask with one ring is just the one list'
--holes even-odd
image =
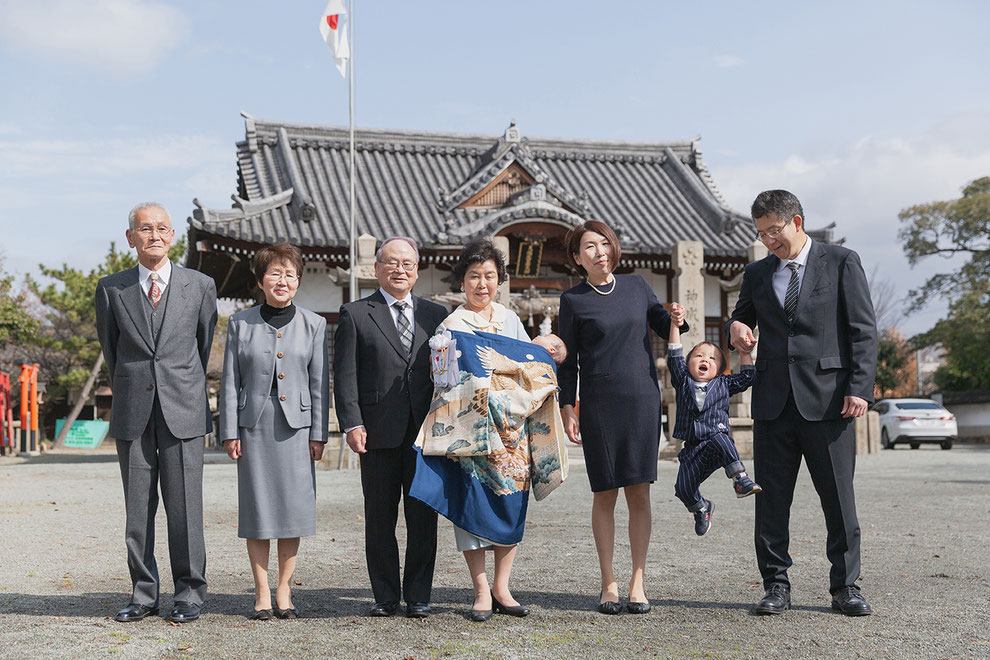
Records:
{"label": "gray suit trousers of the elderly man with red tie", "polygon": [[131,602],[158,605],[155,513],[158,484],[168,518],[168,551],[175,600],[202,605],[206,598],[203,539],[203,438],[176,438],[155,397],[151,419],[138,440],[117,440],[124,484],[125,543]]}

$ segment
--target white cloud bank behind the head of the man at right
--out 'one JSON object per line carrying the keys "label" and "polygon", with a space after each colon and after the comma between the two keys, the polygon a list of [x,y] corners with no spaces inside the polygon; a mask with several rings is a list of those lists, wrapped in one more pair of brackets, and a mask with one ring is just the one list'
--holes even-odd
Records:
{"label": "white cloud bank behind the head of the man at right", "polygon": [[[955,116],[915,136],[865,136],[824,153],[722,167],[714,176],[730,206],[743,213],[761,190],[794,192],[809,227],[835,222],[836,236],[860,254],[867,272],[878,267],[878,275],[894,281],[903,296],[956,264],[929,258],[911,268],[897,238],[897,214],[915,204],[959,197],[966,183],[990,176],[990,114]],[[934,305],[908,319],[905,329],[931,327],[941,309]]]}

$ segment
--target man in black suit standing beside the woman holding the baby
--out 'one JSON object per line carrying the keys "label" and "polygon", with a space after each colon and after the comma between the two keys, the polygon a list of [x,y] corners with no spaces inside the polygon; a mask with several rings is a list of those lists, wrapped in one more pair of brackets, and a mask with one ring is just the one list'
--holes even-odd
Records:
{"label": "man in black suit standing beside the woman holding the baby", "polygon": [[[433,397],[428,340],[447,310],[412,295],[419,250],[392,237],[375,256],[381,288],[342,305],[333,360],[334,406],[347,444],[361,455],[365,555],[375,595],[369,616],[392,616],[400,597],[406,616],[430,612],[437,553],[437,513],[409,497],[416,470],[413,440]],[[399,581],[395,524],[406,518],[404,578]]]}

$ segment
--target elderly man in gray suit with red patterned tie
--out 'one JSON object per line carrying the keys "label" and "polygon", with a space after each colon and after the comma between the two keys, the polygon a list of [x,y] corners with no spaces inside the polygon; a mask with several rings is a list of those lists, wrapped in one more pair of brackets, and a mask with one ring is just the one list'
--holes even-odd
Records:
{"label": "elderly man in gray suit with red patterned tie", "polygon": [[206,597],[203,436],[212,431],[206,363],[217,323],[216,287],[211,278],[169,261],[175,230],[161,204],[134,207],[128,224],[125,236],[137,250],[138,265],[104,277],[96,287],[132,584],[130,603],[114,618],[140,621],[158,613],[160,478],[175,582],[170,619],[193,621]]}

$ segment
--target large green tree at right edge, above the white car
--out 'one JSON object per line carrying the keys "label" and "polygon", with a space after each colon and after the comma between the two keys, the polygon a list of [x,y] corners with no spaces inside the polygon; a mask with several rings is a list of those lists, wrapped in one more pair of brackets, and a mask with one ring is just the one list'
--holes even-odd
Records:
{"label": "large green tree at right edge, above the white car", "polygon": [[952,272],[939,273],[912,291],[911,310],[935,296],[949,298],[946,318],[912,339],[915,346],[941,343],[945,365],[935,383],[945,391],[990,389],[990,177],[963,188],[959,199],[904,209],[899,237],[911,265],[929,256],[968,256]]}

